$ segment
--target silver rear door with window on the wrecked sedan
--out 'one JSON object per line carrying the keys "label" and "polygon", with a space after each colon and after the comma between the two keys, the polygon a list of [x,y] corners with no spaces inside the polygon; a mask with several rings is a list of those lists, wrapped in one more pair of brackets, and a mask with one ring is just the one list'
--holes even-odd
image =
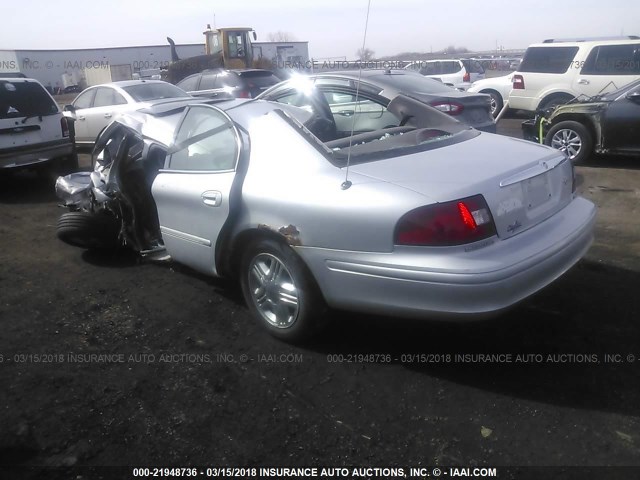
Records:
{"label": "silver rear door with window on the wrecked sedan", "polygon": [[165,168],[153,182],[160,231],[171,257],[217,275],[215,250],[230,211],[240,135],[231,119],[209,105],[188,107]]}

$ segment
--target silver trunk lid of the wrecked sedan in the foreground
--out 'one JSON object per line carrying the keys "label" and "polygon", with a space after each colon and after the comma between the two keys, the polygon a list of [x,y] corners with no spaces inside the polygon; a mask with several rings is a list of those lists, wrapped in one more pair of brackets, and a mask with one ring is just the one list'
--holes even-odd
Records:
{"label": "silver trunk lid of the wrecked sedan in the foreground", "polygon": [[500,238],[537,225],[573,198],[573,168],[563,154],[490,134],[351,169],[434,202],[482,194]]}

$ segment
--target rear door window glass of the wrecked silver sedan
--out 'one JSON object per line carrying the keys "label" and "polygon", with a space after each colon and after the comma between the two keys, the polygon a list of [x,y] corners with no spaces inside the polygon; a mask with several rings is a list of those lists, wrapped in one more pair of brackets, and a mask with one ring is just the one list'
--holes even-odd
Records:
{"label": "rear door window glass of the wrecked silver sedan", "polygon": [[238,158],[235,129],[219,110],[192,106],[176,135],[171,170],[233,170]]}

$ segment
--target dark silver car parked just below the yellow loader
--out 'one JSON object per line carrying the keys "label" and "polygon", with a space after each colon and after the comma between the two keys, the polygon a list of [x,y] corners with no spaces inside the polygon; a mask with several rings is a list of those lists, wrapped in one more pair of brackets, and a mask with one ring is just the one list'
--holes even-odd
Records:
{"label": "dark silver car parked just below the yellow loader", "polygon": [[177,86],[194,97],[254,98],[279,82],[280,79],[270,70],[215,68],[189,75]]}

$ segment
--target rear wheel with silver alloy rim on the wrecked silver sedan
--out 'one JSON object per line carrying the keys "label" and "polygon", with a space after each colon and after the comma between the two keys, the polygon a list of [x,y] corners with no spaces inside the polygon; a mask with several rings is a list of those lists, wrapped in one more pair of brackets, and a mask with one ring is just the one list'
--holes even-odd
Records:
{"label": "rear wheel with silver alloy rim on the wrecked silver sedan", "polygon": [[250,245],[242,259],[240,284],[254,318],[281,340],[307,340],[328,323],[320,289],[284,242],[265,239]]}

